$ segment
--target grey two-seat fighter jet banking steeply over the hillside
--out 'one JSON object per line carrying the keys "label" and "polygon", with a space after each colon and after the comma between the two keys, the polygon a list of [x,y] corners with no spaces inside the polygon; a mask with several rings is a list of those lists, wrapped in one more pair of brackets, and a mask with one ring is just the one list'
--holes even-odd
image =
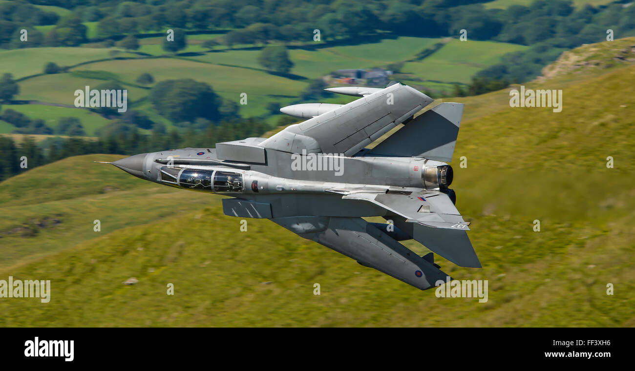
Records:
{"label": "grey two-seat fighter jet banking steeply over the hillside", "polygon": [[[360,98],[281,108],[307,120],[270,138],[141,153],[112,165],[161,185],[231,196],[222,200],[228,216],[269,219],[421,290],[451,279],[434,253],[481,268],[470,223],[448,188],[462,103],[414,117],[433,100],[401,83],[326,90]],[[387,223],[363,219],[373,216]],[[399,242],[411,239],[432,252],[419,256]]]}

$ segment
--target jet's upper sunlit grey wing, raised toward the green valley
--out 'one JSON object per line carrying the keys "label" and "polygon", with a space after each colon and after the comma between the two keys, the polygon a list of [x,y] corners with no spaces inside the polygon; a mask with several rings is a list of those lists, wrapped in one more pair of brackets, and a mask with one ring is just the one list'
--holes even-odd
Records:
{"label": "jet's upper sunlit grey wing, raised toward the green valley", "polygon": [[432,98],[417,89],[394,84],[288,126],[259,145],[291,153],[305,149],[351,156],[430,103]]}

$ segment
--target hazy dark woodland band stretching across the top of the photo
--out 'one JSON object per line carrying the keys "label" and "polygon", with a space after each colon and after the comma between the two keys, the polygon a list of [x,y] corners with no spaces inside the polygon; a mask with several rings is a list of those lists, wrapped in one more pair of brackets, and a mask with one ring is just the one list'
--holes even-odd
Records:
{"label": "hazy dark woodland band stretching across the top of the photo", "polygon": [[[17,26],[55,24],[47,42],[76,44],[85,37],[81,22],[98,22],[98,37],[112,37],[166,29],[234,29],[225,44],[351,39],[377,30],[412,36],[458,36],[470,39],[533,45],[552,40],[561,48],[599,41],[606,29],[633,34],[635,10],[622,4],[575,10],[570,0],[536,0],[529,6],[486,9],[485,0],[146,0],[57,1],[72,10],[59,18],[25,1],[0,4],[0,35],[9,37]],[[631,9],[629,9],[631,8]],[[1,23],[4,22],[4,23]],[[10,23],[10,24],[9,24]],[[14,25],[13,29],[11,25]],[[70,27],[73,26],[73,27]],[[70,30],[73,28],[74,30]],[[2,43],[2,40],[0,40]]]}

